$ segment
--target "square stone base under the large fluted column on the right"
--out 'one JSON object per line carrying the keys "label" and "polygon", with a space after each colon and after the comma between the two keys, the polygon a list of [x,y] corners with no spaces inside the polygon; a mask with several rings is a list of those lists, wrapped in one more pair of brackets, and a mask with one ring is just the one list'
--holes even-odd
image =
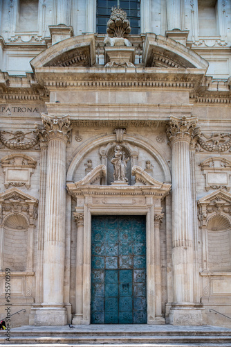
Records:
{"label": "square stone base under the large fluted column on the right", "polygon": [[196,305],[172,305],[169,312],[172,325],[203,325],[202,311]]}

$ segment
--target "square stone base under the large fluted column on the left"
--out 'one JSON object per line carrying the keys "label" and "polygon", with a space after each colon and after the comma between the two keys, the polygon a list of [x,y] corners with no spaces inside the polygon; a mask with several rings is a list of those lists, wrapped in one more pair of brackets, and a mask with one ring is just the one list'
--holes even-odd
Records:
{"label": "square stone base under the large fluted column on the left", "polygon": [[35,312],[35,325],[66,325],[66,308],[41,307]]}

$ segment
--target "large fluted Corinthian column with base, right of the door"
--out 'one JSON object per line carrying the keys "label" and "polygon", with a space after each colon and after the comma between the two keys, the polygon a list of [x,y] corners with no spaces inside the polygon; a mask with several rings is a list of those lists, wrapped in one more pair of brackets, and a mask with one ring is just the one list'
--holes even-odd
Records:
{"label": "large fluted Corinthian column with base, right of the door", "polygon": [[174,303],[169,320],[174,325],[200,325],[201,311],[194,305],[193,211],[190,142],[196,117],[170,117],[167,137],[172,145],[172,265]]}

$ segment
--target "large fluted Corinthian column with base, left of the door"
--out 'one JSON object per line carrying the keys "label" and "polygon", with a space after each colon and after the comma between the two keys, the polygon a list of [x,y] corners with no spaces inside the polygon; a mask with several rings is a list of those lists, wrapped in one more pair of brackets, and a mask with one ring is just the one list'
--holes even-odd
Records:
{"label": "large fluted Corinthian column with base, left of the door", "polygon": [[65,325],[64,257],[66,214],[66,143],[71,132],[68,116],[41,116],[48,141],[44,228],[44,303],[37,325]]}

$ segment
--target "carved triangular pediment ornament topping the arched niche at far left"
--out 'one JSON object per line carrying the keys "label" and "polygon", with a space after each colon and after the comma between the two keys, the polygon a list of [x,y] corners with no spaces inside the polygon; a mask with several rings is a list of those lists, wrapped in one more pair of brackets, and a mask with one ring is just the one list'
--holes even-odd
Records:
{"label": "carved triangular pediment ornament topping the arched niche at far left", "polygon": [[10,214],[21,214],[29,226],[35,226],[37,219],[37,198],[33,198],[18,188],[10,188],[0,195],[0,224]]}

